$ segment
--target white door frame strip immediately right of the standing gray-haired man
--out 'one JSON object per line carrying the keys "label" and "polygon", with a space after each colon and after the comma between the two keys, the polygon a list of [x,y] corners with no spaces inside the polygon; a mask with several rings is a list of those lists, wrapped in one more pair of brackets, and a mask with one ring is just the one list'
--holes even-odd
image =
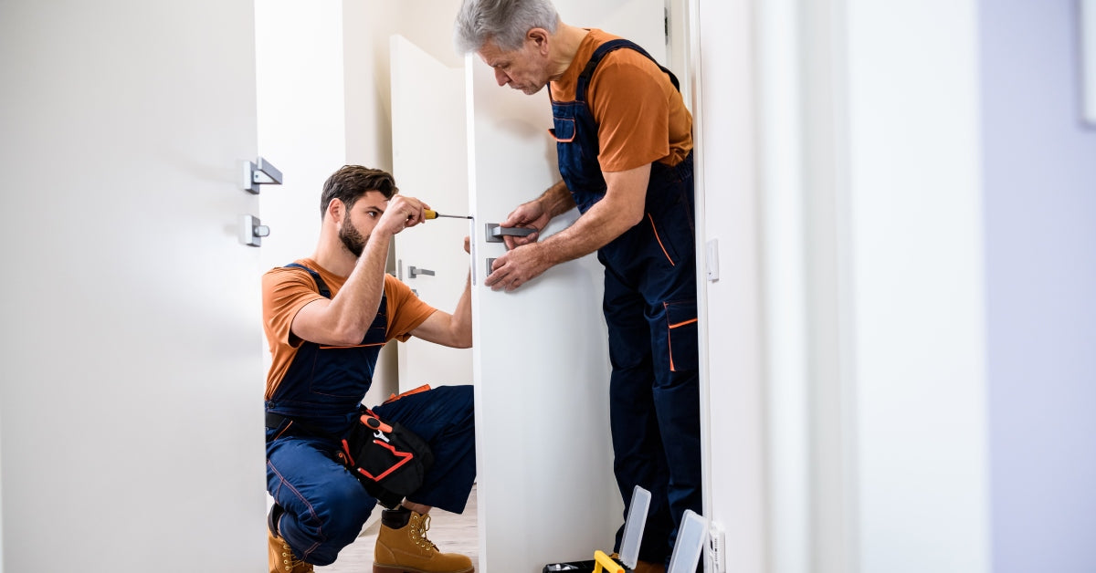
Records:
{"label": "white door frame strip immediately right of the standing gray-haired man", "polygon": [[731,571],[764,571],[767,485],[754,149],[752,2],[694,0],[698,252],[718,242],[718,282],[700,273],[705,514],[726,531]]}

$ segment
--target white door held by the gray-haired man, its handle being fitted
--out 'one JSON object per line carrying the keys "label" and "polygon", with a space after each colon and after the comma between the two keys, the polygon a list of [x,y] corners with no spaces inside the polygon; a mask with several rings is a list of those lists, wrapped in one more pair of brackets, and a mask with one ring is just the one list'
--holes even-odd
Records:
{"label": "white door held by the gray-haired man, its handle being fitted", "polygon": [[[629,37],[663,58],[663,0],[557,1],[564,22]],[[559,179],[545,93],[500,88],[466,60],[469,181],[476,214],[473,373],[483,573],[535,573],[610,551],[623,522],[608,424],[609,360],[603,270],[593,255],[556,266],[514,293],[482,285],[487,224]],[[572,210],[546,229],[559,231]]]}

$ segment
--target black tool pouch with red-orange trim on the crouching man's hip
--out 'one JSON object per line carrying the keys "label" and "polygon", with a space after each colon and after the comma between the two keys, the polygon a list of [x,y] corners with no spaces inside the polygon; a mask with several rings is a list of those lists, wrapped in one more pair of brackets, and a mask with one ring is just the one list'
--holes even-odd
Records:
{"label": "black tool pouch with red-orange trim on the crouching man's hip", "polygon": [[342,437],[340,461],[365,490],[392,509],[422,485],[434,454],[421,437],[397,422],[363,410]]}

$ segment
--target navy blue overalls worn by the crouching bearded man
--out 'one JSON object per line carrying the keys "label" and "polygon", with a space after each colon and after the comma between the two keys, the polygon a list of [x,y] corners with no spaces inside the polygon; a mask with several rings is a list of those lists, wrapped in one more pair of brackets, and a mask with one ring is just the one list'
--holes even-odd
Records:
{"label": "navy blue overalls worn by the crouching bearded man", "polygon": [[[320,294],[331,297],[319,273],[296,263],[287,266],[308,271]],[[377,503],[336,461],[339,444],[332,436],[342,436],[357,416],[385,345],[387,312],[387,299],[381,296],[377,318],[356,346],[304,342],[266,401],[266,412],[286,416],[276,427],[266,428],[266,488],[285,511],[278,523],[282,537],[308,563],[333,562],[357,538]],[[443,386],[373,411],[381,420],[410,428],[434,452],[434,465],[411,501],[464,512],[476,478],[471,387]]]}

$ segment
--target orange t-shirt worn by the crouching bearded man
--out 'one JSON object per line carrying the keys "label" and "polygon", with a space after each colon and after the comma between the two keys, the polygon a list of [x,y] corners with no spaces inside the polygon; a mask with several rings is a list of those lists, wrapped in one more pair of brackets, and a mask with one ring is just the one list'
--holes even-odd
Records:
{"label": "orange t-shirt worn by the crouching bearded man", "polygon": [[[331,290],[332,298],[349,278],[332,274],[311,259],[301,259],[297,263],[318,272]],[[290,332],[294,317],[305,305],[321,298],[323,295],[317,289],[316,282],[304,268],[277,267],[263,274],[263,330],[273,357],[266,374],[266,400],[274,396],[304,342]],[[385,275],[385,298],[388,301],[386,342],[408,340],[411,331],[437,310],[416,297],[411,287],[388,274]]]}

